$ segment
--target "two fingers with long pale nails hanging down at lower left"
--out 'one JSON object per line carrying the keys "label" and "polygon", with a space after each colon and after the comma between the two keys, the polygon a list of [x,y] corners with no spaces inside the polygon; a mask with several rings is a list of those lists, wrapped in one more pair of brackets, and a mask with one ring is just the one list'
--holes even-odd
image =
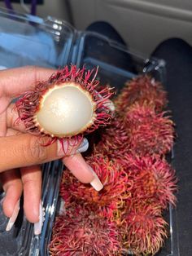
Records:
{"label": "two fingers with long pale nails hanging down at lower left", "polygon": [[[21,178],[20,178],[21,172]],[[7,231],[15,223],[20,210],[20,196],[24,189],[24,213],[31,223],[39,223],[41,207],[41,168],[40,166],[29,166],[19,170],[7,170],[0,174],[2,188],[6,195],[3,198],[2,208],[4,214],[10,218]],[[41,221],[42,223],[42,217]],[[41,226],[37,225],[38,232]]]}

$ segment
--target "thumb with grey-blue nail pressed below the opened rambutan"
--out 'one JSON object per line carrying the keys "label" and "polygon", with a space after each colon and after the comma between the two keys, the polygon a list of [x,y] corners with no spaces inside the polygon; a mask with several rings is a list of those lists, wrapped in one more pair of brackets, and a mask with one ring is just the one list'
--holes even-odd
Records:
{"label": "thumb with grey-blue nail pressed below the opened rambutan", "polygon": [[85,147],[81,147],[85,140],[74,145],[71,143],[72,140],[63,139],[63,144],[57,140],[47,147],[43,146],[49,141],[50,138],[29,134],[0,138],[0,172],[24,166],[34,166],[62,158],[68,154],[85,151]]}

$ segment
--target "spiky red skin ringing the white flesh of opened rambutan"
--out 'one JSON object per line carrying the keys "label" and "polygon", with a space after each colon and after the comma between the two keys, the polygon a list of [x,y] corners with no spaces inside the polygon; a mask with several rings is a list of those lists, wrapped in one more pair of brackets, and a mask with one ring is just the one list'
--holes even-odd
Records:
{"label": "spiky red skin ringing the white flesh of opened rambutan", "polygon": [[[93,70],[85,71],[85,68],[76,68],[75,65],[72,65],[70,68],[66,66],[65,68],[58,70],[56,73],[46,81],[38,82],[34,90],[27,91],[20,97],[16,102],[16,108],[19,113],[19,120],[23,121],[26,126],[26,130],[33,135],[48,135],[50,136],[50,143],[54,143],[56,139],[59,139],[62,143],[63,137],[58,137],[55,135],[47,134],[45,130],[42,130],[42,127],[39,127],[34,121],[34,116],[41,106],[41,99],[43,95],[46,94],[48,90],[54,88],[55,85],[64,85],[65,82],[73,82],[87,92],[91,96],[95,104],[95,117],[91,123],[91,126],[86,127],[85,130],[81,131],[79,134],[68,136],[67,139],[73,138],[76,140],[76,143],[79,143],[82,139],[82,136],[89,134],[90,132],[98,129],[98,126],[107,126],[111,121],[111,109],[108,107],[108,99],[111,97],[112,92],[111,88],[100,87],[99,82],[95,79],[98,69],[94,73]],[[91,77],[94,77],[91,79]],[[102,88],[98,90],[98,88]],[[75,138],[74,138],[75,137]],[[65,137],[66,138],[66,137]]]}

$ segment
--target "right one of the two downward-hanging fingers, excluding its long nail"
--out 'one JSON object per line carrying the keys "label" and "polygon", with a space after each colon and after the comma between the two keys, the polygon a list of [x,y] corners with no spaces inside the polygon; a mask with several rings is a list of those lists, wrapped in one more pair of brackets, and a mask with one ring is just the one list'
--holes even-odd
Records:
{"label": "right one of the two downward-hanging fingers, excluding its long nail", "polygon": [[41,204],[41,168],[29,166],[20,168],[24,188],[24,214],[31,223],[39,222]]}

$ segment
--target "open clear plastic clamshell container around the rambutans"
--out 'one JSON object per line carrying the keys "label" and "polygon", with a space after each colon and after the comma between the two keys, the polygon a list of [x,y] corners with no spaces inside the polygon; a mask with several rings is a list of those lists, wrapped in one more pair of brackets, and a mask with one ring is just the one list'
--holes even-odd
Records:
{"label": "open clear plastic clamshell container around the rambutans", "polygon": [[[116,58],[116,55],[121,57]],[[150,73],[155,79],[166,83],[164,60],[145,60],[109,38],[98,33],[76,31],[65,21],[51,17],[42,20],[0,10],[0,57],[0,66],[5,68],[32,64],[50,68],[66,64],[85,65],[86,68],[98,66],[97,78],[103,84],[115,86],[117,90],[124,86],[124,82],[142,73]],[[24,218],[22,207],[11,232],[5,232],[7,218],[0,211],[0,256],[49,255],[52,227],[55,215],[59,213],[62,172],[60,161],[42,166],[42,203],[46,216],[40,236],[34,236],[33,225]],[[159,256],[179,255],[175,214],[176,210],[170,207],[166,216],[170,236],[157,254]],[[4,246],[5,243],[7,246]]]}

